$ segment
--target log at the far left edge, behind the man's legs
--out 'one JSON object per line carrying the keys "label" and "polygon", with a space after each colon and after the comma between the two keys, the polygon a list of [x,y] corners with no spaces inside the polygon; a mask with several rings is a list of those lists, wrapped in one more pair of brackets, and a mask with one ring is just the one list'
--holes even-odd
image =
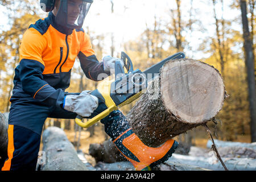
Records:
{"label": "log at the far left edge, behind the man's legs", "polygon": [[7,158],[8,146],[8,120],[4,114],[0,113],[0,167]]}

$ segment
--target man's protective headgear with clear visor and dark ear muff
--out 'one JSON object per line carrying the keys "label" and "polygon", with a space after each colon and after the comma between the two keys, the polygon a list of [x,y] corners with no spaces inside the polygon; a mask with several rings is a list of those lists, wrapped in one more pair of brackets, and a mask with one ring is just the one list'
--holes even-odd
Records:
{"label": "man's protective headgear with clear visor and dark ear muff", "polygon": [[[40,0],[40,7],[46,12],[52,11],[55,6],[55,1],[56,0]],[[79,12],[73,17],[68,17],[69,9],[72,11],[72,6],[75,6],[75,3],[72,0],[60,0],[60,7],[55,16],[56,23],[68,28],[81,28],[93,0],[81,0],[81,2]]]}

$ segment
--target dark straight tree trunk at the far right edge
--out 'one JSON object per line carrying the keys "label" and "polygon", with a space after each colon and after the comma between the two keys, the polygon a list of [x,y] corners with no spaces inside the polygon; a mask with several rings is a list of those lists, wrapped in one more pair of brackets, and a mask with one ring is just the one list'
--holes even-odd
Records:
{"label": "dark straight tree trunk at the far right edge", "polygon": [[256,91],[254,75],[254,55],[253,46],[251,45],[251,36],[248,26],[246,1],[240,1],[242,24],[243,24],[243,48],[245,50],[245,64],[247,69],[247,82],[249,92],[250,107],[250,125],[251,125],[251,142],[256,142]]}

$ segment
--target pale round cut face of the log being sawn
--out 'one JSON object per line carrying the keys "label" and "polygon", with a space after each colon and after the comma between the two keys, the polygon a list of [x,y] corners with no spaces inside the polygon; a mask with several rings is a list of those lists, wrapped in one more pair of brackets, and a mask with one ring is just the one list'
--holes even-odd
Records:
{"label": "pale round cut face of the log being sawn", "polygon": [[168,61],[160,76],[166,110],[185,123],[203,123],[222,108],[225,86],[220,73],[201,61]]}

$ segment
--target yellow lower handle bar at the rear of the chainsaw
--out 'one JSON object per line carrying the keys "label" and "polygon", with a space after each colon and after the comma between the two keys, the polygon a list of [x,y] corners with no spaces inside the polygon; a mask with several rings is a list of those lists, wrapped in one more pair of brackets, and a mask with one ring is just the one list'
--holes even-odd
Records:
{"label": "yellow lower handle bar at the rear of the chainsaw", "polygon": [[117,108],[116,106],[109,107],[108,109],[104,110],[100,114],[94,116],[92,119],[89,119],[87,122],[82,122],[82,117],[80,115],[77,115],[75,122],[77,123],[77,125],[79,125],[81,127],[85,127],[85,128],[90,127],[90,126],[94,125],[95,123],[97,123],[98,121],[100,121],[101,119],[108,116],[116,108]]}

